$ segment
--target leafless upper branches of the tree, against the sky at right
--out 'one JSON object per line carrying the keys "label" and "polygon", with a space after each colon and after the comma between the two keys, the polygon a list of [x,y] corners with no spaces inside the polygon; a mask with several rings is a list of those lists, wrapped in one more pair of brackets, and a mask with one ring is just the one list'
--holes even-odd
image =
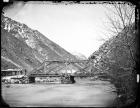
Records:
{"label": "leafless upper branches of the tree, against the sky at right", "polygon": [[[109,7],[110,6],[110,7]],[[111,14],[106,14],[111,25],[111,31],[119,33],[124,28],[132,25],[135,21],[135,7],[128,3],[114,2],[106,6]]]}

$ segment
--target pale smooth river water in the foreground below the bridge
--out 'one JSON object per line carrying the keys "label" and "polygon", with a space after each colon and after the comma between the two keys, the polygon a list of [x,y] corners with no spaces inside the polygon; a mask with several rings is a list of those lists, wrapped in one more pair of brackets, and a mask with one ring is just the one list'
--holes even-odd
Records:
{"label": "pale smooth river water in the foreground below the bridge", "polygon": [[116,97],[107,81],[83,81],[75,84],[11,84],[2,86],[2,96],[10,106],[108,106]]}

